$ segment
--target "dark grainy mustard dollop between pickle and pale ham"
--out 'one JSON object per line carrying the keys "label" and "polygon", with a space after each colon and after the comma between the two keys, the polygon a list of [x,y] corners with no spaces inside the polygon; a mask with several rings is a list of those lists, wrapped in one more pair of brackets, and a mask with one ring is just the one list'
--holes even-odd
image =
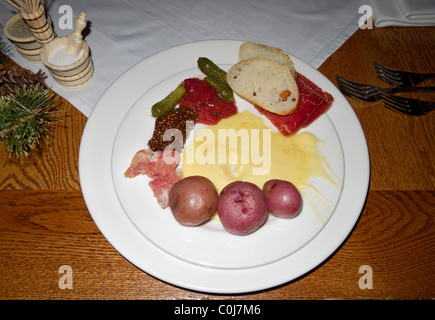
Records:
{"label": "dark grainy mustard dollop between pickle and pale ham", "polygon": [[148,141],[148,146],[153,151],[163,151],[171,144],[172,150],[181,152],[197,118],[196,110],[184,107],[173,108],[156,119],[153,136]]}

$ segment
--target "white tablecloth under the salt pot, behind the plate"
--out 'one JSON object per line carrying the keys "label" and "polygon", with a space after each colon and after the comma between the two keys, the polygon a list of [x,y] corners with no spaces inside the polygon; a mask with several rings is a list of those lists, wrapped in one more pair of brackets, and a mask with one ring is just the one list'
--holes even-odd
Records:
{"label": "white tablecloth under the salt pot, behind the plate", "polygon": [[[319,67],[358,28],[360,0],[62,0],[43,2],[55,32],[69,5],[73,18],[85,12],[86,35],[95,66],[92,81],[77,89],[57,84],[42,63],[13,49],[22,67],[42,69],[47,84],[89,116],[104,91],[129,68],[162,50],[200,40],[249,40],[279,47]],[[0,22],[16,10],[0,1]],[[73,23],[74,26],[74,23]]]}

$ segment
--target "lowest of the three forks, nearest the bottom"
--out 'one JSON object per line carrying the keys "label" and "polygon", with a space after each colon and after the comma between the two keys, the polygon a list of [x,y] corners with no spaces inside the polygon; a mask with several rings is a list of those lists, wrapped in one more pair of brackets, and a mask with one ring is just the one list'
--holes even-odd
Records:
{"label": "lowest of the three forks, nearest the bottom", "polygon": [[385,107],[411,116],[422,116],[435,109],[435,102],[381,93]]}

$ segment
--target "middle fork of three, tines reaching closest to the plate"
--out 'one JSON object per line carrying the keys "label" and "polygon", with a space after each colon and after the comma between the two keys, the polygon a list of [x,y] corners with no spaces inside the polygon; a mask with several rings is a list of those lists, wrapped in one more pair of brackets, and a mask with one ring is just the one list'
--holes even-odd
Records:
{"label": "middle fork of three, tines reaching closest to the plate", "polygon": [[338,75],[335,76],[335,79],[337,80],[338,88],[343,94],[368,102],[378,101],[382,99],[381,92],[397,93],[397,92],[415,92],[415,91],[435,91],[435,87],[381,88],[377,86],[351,81],[343,77],[340,77]]}

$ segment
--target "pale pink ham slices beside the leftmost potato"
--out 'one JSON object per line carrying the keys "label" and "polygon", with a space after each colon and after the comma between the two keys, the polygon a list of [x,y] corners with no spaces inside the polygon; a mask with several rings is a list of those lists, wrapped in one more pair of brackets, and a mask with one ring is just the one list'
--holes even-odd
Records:
{"label": "pale pink ham slices beside the leftmost potato", "polygon": [[152,151],[143,149],[136,152],[124,176],[134,178],[146,175],[151,178],[149,186],[162,208],[169,205],[169,191],[181,180],[177,170],[180,155],[174,150]]}

